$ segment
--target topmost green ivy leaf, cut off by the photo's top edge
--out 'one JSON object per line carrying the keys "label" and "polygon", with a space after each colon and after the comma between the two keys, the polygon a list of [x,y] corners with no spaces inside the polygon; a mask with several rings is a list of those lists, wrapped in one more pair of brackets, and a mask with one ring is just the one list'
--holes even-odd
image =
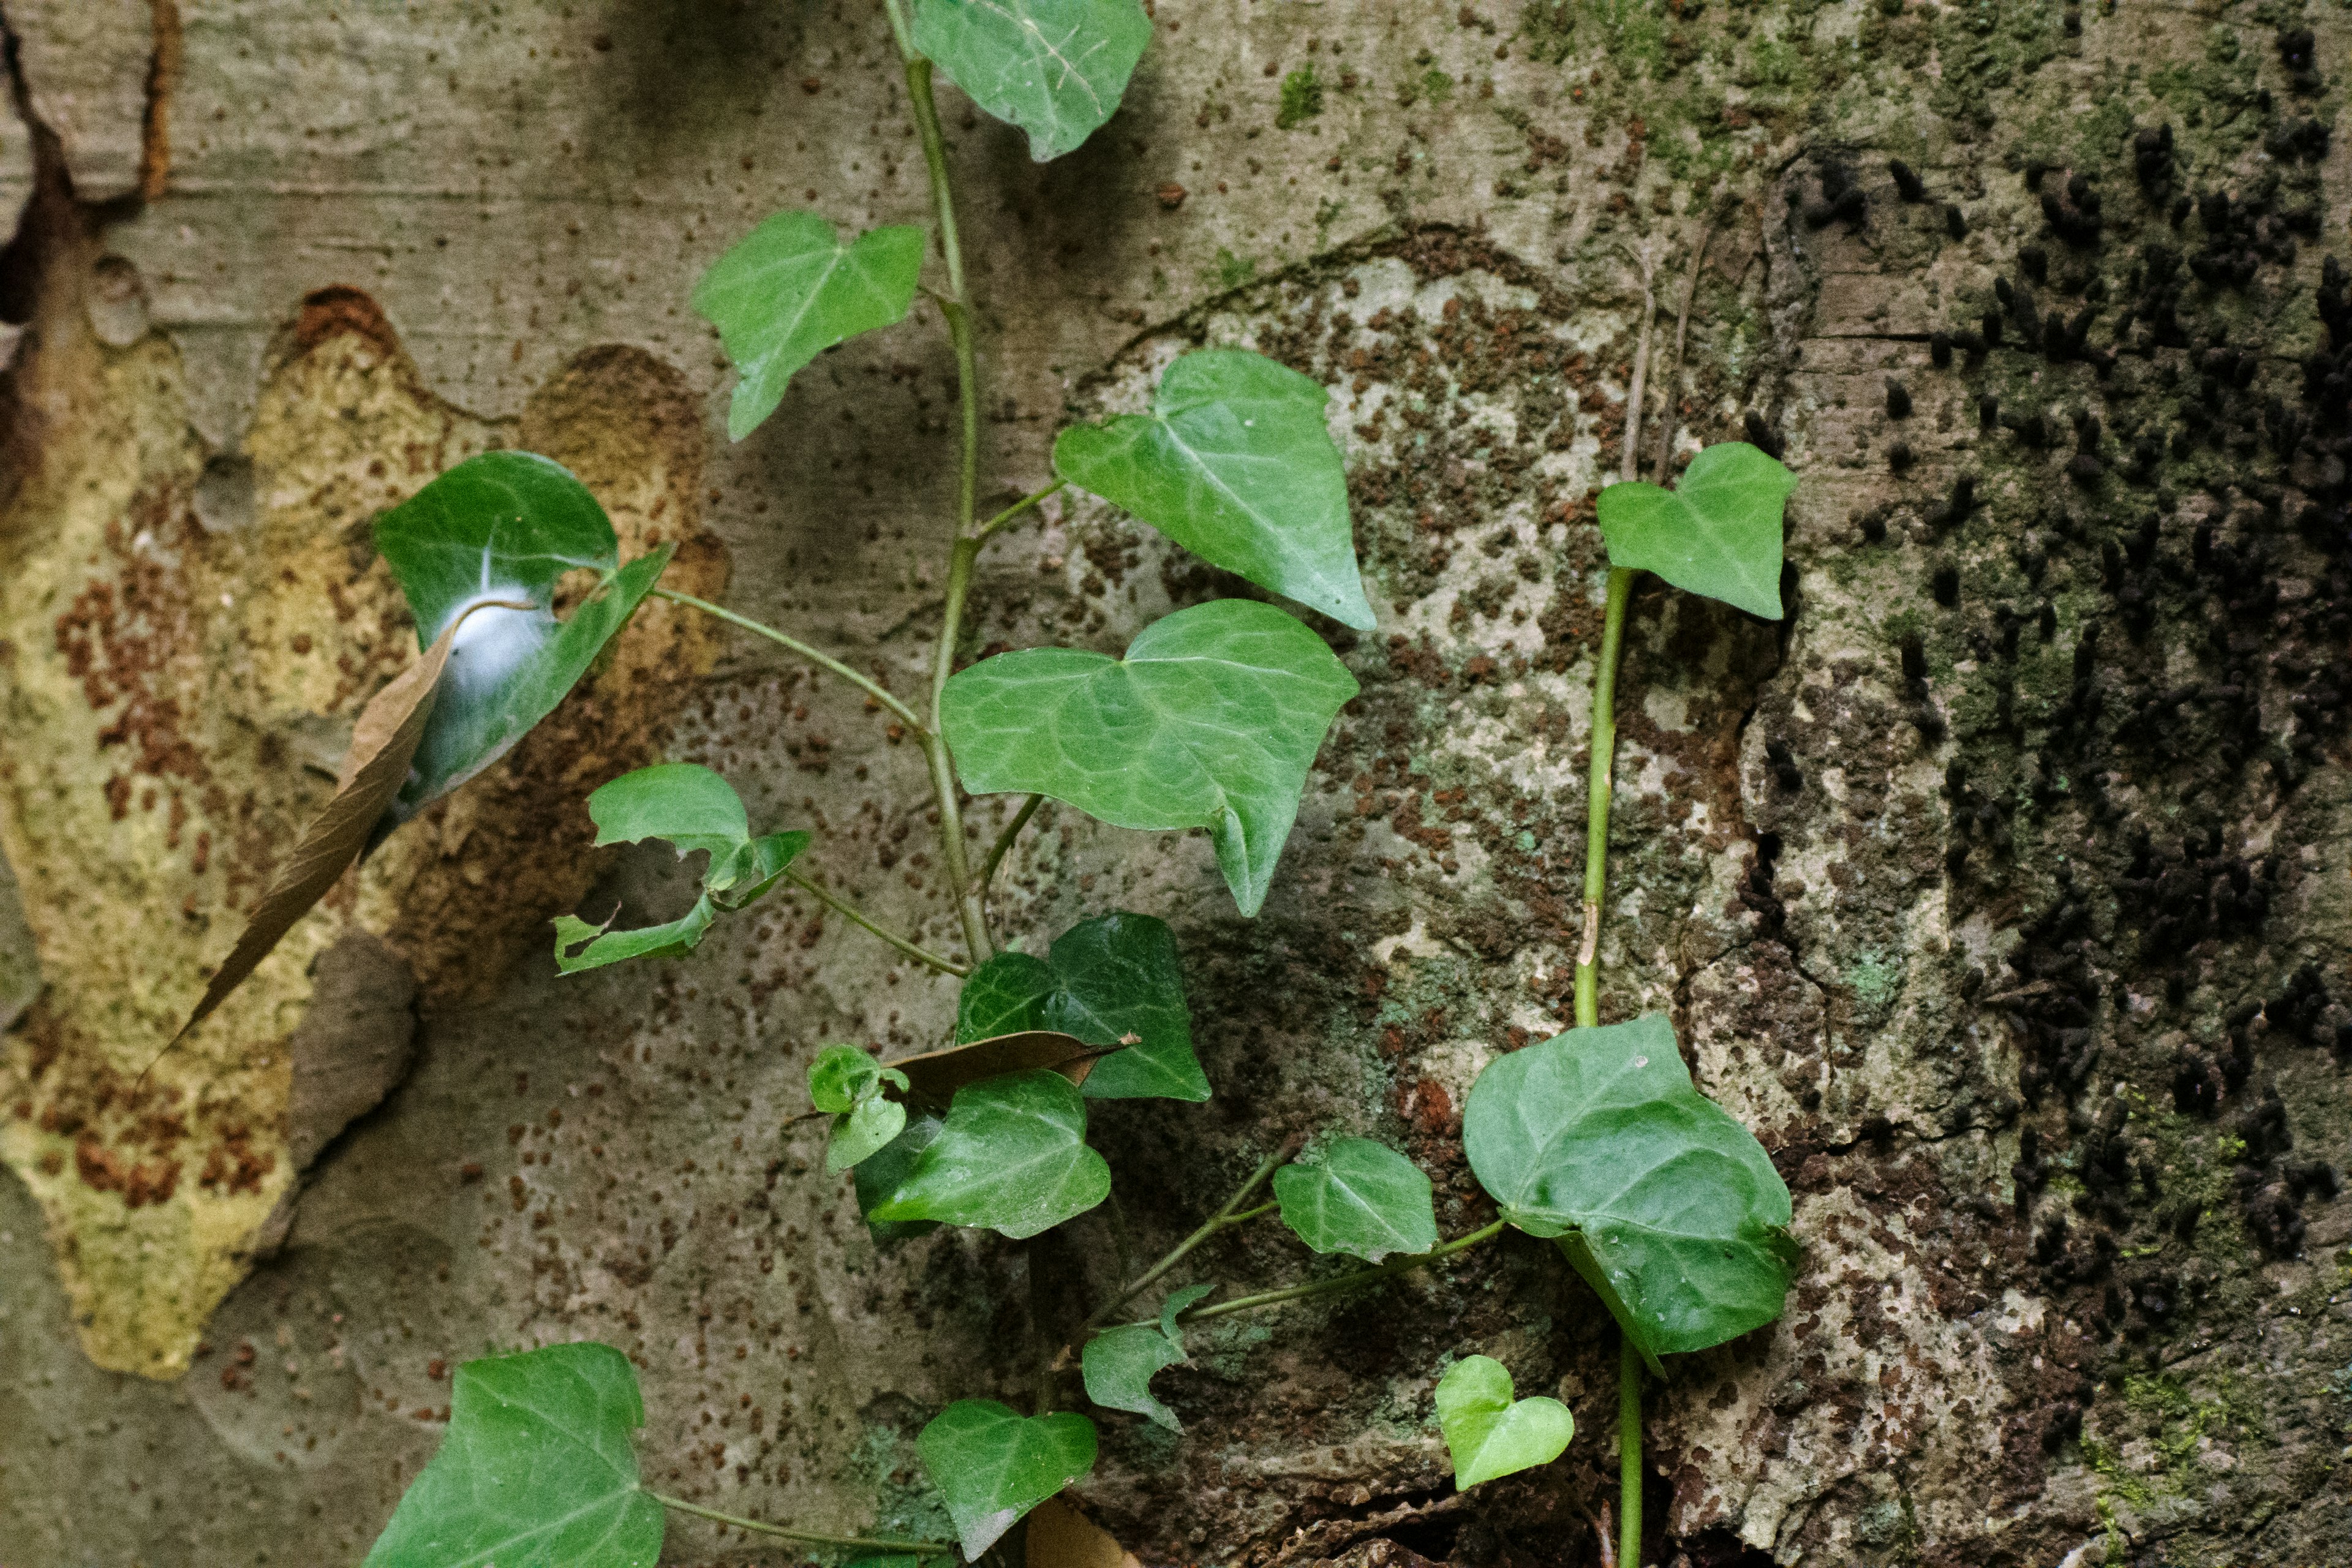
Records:
{"label": "topmost green ivy leaf, cut off by the photo's top edge", "polygon": [[1117,113],[1150,40],[1136,0],[915,0],[915,49],[974,103],[1025,129],[1037,162]]}

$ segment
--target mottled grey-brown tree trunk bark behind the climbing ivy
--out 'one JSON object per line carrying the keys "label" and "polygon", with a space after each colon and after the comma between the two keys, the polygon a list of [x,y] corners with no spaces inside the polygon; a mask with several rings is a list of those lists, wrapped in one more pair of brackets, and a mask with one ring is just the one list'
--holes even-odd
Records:
{"label": "mottled grey-brown tree trunk bark behind the climbing ivy", "polygon": [[[1804,1244],[1783,1321],[1651,1392],[1649,1561],[2352,1556],[2338,9],[1160,0],[1054,165],[943,87],[983,505],[1171,353],[1254,346],[1331,388],[1381,628],[1319,623],[1364,693],[1256,922],[1204,839],[1070,809],[1000,872],[1033,952],[1176,924],[1216,1098],[1098,1105],[1117,1204],[1065,1234],[894,1248],[793,1117],[821,1044],[936,1044],[953,980],[783,893],[691,959],[548,964],[548,917],[684,891],[588,849],[586,792],[654,757],[960,940],[915,748],[668,609],[139,1077],[407,656],[369,517],[470,451],[557,456],[682,588],[920,689],[936,317],[727,444],[687,310],[774,209],[924,221],[880,9],[0,21],[9,1568],[358,1561],[449,1368],[574,1338],[637,1361],[659,1488],[856,1528],[920,1507],[941,1403],[1051,1389],[1073,1319],[1296,1133],[1491,1220],[1461,1105],[1569,1023],[1592,496],[1644,334],[1644,473],[1755,440],[1799,489],[1780,623],[1635,595],[1602,1018],[1675,1018]],[[1230,590],[1061,496],[983,557],[967,656]],[[1265,1229],[1190,1262],[1308,1274]],[[1192,1347],[1155,1385],[1185,1434],[1105,1413],[1075,1490],[1143,1563],[1602,1561],[1616,1342],[1555,1248]],[[1430,1389],[1472,1352],[1581,1432],[1456,1493]],[[666,1561],[774,1559],[677,1519]]]}

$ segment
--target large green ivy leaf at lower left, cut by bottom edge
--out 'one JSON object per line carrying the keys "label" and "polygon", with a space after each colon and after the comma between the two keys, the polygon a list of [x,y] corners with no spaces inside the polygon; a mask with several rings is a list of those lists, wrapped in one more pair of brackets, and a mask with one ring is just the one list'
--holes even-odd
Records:
{"label": "large green ivy leaf at lower left, cut by bottom edge", "polygon": [[637,1486],[637,1373],[609,1345],[456,1368],[449,1434],[367,1568],[654,1568],[663,1509]]}

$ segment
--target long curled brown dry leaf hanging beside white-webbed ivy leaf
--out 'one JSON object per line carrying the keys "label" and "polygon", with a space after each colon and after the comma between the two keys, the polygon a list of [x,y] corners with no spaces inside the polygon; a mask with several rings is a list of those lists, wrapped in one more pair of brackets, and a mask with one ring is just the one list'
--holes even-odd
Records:
{"label": "long curled brown dry leaf hanging beside white-webbed ivy leaf", "polygon": [[[499,609],[529,607],[499,602]],[[238,945],[221,961],[221,969],[214,971],[212,985],[205,987],[205,999],[195,1004],[188,1023],[172,1037],[174,1046],[195,1025],[205,1023],[261,966],[261,959],[270,957],[270,950],[294,929],[294,922],[308,914],[310,905],[327,896],[336,877],[350,870],[350,863],[369,849],[369,835],[383,820],[393,797],[400,795],[400,785],[409,776],[409,759],[416,755],[416,743],[433,717],[433,693],[440,689],[442,670],[449,665],[449,649],[456,644],[456,628],[463,623],[463,616],[452,621],[433,639],[423,658],[393,677],[360,710],[360,722],[350,729],[350,750],[343,752],[343,769],[334,780],[334,799],[303,830],[285,870],[278,872],[270,891],[254,905],[245,931],[238,936]]]}

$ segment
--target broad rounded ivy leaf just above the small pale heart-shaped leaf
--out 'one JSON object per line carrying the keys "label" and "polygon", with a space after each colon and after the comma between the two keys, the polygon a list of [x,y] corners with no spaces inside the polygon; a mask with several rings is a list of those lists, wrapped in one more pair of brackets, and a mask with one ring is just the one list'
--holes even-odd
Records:
{"label": "broad rounded ivy leaf just above the small pale heart-shaped leaf", "polygon": [[1663,1013],[1496,1058],[1470,1086],[1463,1150],[1503,1218],[1562,1237],[1653,1366],[1780,1316],[1788,1185],[1691,1086]]}

